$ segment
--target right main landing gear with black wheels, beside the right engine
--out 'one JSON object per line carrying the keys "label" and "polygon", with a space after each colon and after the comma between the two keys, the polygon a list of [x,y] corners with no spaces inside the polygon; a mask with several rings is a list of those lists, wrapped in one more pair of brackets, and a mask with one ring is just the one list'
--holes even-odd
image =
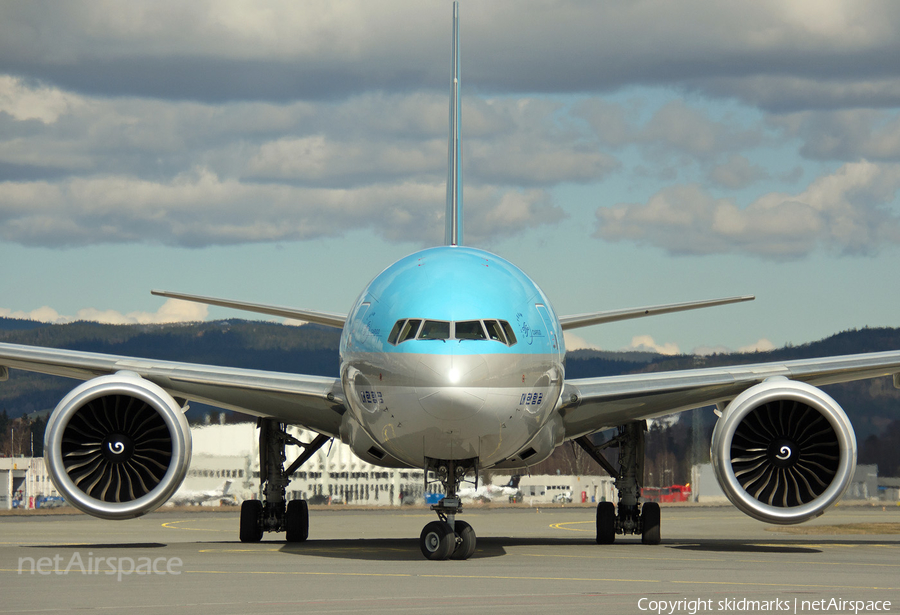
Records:
{"label": "right main landing gear with black wheels, beside the right engine", "polygon": [[[616,479],[616,489],[619,491],[618,511],[612,502],[597,504],[597,544],[612,544],[616,534],[640,534],[645,545],[658,545],[660,542],[659,504],[641,504],[645,431],[647,422],[637,421],[621,425],[618,435],[600,446],[595,446],[587,436],[575,440]],[[610,446],[619,447],[618,469],[600,454],[601,450]]]}

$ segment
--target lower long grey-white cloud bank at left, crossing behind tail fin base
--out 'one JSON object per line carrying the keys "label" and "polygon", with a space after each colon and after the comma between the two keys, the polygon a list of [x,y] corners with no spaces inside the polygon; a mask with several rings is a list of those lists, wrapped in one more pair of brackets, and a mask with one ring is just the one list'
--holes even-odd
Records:
{"label": "lower long grey-white cloud bank at left, crossing behind tail fin base", "polygon": [[[443,236],[443,184],[350,189],[253,184],[195,169],[171,181],[95,177],[0,183],[0,239],[28,246],[147,243],[201,247],[339,236],[371,228],[391,241]],[[470,187],[467,236],[506,237],[564,217],[543,190]]]}

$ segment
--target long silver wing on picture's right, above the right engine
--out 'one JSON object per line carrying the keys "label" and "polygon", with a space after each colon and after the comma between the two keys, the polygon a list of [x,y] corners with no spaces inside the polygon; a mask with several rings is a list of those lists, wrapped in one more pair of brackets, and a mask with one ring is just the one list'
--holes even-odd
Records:
{"label": "long silver wing on picture's right, above the right engine", "polygon": [[814,386],[900,374],[900,351],[567,380],[560,402],[566,438],[629,421],[725,403],[766,378]]}

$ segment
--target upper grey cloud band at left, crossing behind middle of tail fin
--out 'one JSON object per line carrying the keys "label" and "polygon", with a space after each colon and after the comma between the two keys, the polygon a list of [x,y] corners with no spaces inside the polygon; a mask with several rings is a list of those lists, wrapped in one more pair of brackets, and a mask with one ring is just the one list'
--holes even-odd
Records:
{"label": "upper grey cloud band at left, crossing behind middle of tail fin", "polygon": [[[4,98],[4,87],[8,90]],[[49,92],[49,94],[48,94]],[[70,97],[0,76],[0,163],[160,178],[201,164],[220,176],[267,183],[351,187],[445,181],[446,95],[370,93],[336,104],[212,105]],[[529,98],[464,105],[467,184],[552,186],[604,177],[617,161],[594,140],[557,126],[560,105]],[[53,121],[32,125],[39,114]]]}

